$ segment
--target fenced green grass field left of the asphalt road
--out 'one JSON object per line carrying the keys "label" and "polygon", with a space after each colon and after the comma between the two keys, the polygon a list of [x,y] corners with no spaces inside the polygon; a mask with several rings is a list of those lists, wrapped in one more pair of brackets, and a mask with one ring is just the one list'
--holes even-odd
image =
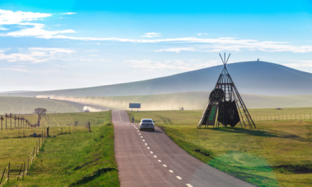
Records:
{"label": "fenced green grass field left of the asphalt road", "polygon": [[[79,114],[84,114],[80,116]],[[56,121],[70,121],[71,117],[90,121],[90,133],[86,127],[50,127],[47,138],[37,153],[24,181],[11,180],[5,186],[119,186],[114,159],[114,127],[111,112],[51,114]],[[66,124],[66,123],[64,123]],[[46,128],[24,128],[28,134]],[[63,129],[63,134],[61,130]],[[67,134],[64,134],[65,130]],[[10,176],[18,175],[21,163],[28,159],[38,138],[18,136],[18,129],[0,132],[0,172],[10,162]],[[26,133],[25,133],[26,134]]]}

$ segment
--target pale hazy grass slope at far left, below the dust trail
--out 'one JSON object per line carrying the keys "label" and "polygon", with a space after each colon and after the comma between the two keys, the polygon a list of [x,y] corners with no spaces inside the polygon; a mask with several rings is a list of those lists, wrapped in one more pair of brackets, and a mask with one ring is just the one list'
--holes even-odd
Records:
{"label": "pale hazy grass slope at far left, below the dust trail", "polygon": [[62,100],[26,97],[0,97],[0,114],[30,114],[42,107],[49,112],[83,112],[83,106]]}

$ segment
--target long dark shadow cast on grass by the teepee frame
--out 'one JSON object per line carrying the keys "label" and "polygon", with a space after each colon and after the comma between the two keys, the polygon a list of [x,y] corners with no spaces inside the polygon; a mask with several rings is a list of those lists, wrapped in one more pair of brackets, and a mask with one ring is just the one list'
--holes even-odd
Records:
{"label": "long dark shadow cast on grass by the teepee frame", "polygon": [[273,138],[281,138],[281,139],[293,139],[296,141],[304,141],[304,142],[312,142],[309,139],[304,139],[300,136],[295,134],[291,134],[288,132],[281,132],[275,130],[246,130],[246,129],[239,129],[239,128],[214,128],[214,129],[206,129],[206,130],[216,130],[221,132],[231,132],[231,133],[239,133],[239,134],[249,134],[252,136],[263,136],[263,137],[273,137]]}

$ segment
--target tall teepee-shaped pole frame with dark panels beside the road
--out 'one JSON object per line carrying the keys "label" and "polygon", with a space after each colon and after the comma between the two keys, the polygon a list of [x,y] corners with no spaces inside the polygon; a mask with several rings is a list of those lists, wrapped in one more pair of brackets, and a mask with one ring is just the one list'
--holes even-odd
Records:
{"label": "tall teepee-shaped pole frame with dark panels beside the road", "polygon": [[[219,54],[220,55],[220,54]],[[229,54],[231,55],[231,54]],[[224,60],[220,55],[224,64],[223,71],[221,72],[214,90],[211,91],[207,107],[200,118],[197,128],[207,127],[212,125],[219,127],[220,123],[223,126],[230,125],[234,127],[237,123],[247,127],[256,127],[254,121],[248,112],[243,99],[239,95],[239,91],[236,89],[235,84],[227,71],[227,60]],[[243,125],[242,125],[243,124]]]}

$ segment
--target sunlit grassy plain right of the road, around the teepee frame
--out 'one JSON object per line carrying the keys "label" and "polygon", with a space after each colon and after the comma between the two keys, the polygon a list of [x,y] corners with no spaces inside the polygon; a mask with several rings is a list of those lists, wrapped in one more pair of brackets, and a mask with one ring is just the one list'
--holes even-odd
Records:
{"label": "sunlit grassy plain right of the road, around the teepee frame", "polygon": [[[252,109],[251,116],[306,109]],[[201,112],[128,112],[153,118],[175,143],[201,161],[257,186],[312,186],[312,122],[256,121],[257,129],[196,129]]]}

